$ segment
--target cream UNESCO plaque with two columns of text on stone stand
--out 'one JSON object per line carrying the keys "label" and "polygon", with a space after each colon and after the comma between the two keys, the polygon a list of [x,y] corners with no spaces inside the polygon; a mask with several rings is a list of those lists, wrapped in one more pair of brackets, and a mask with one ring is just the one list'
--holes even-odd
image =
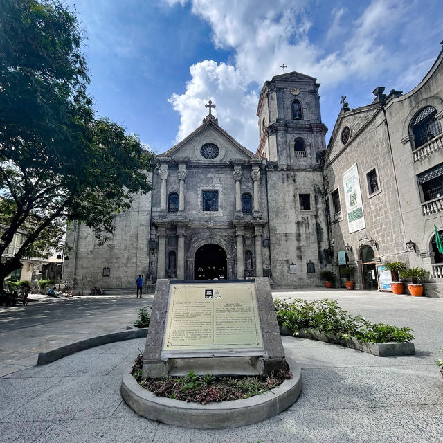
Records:
{"label": "cream UNESCO plaque with two columns of text on stone stand", "polygon": [[255,284],[170,284],[163,352],[263,349]]}

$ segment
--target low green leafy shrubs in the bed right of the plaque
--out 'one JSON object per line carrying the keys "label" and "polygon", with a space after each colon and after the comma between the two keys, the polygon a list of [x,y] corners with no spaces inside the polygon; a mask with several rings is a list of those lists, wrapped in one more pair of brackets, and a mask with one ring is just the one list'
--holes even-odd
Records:
{"label": "low green leafy shrubs in the bed right of the plaque", "polygon": [[275,300],[278,324],[292,332],[315,329],[338,335],[341,338],[357,338],[363,342],[387,343],[412,341],[412,329],[383,323],[370,323],[362,316],[352,316],[338,306],[337,300],[323,298],[308,302],[296,298],[291,302]]}

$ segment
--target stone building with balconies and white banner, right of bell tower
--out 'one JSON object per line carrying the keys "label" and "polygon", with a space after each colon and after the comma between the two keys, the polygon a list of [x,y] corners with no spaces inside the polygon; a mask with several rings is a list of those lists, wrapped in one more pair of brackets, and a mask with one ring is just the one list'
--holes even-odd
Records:
{"label": "stone building with balconies and white banner, right of bell tower", "polygon": [[373,93],[356,109],[343,97],[325,154],[334,263],[341,251],[362,289],[381,287],[384,262],[424,267],[426,295],[442,296],[443,52],[412,91]]}

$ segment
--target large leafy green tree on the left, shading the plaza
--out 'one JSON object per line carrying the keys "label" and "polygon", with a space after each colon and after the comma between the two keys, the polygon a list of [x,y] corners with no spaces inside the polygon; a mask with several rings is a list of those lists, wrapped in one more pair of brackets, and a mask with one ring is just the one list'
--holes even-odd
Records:
{"label": "large leafy green tree on the left, shading the plaza", "polygon": [[0,0],[0,290],[22,257],[59,248],[78,220],[105,242],[116,213],[152,188],[154,156],[95,118],[75,14],[57,0]]}

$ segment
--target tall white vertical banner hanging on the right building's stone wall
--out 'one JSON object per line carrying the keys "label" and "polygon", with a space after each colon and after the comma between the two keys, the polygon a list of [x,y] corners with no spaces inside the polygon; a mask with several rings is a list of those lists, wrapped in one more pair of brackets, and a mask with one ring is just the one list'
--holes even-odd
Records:
{"label": "tall white vertical banner hanging on the right building's stone wall", "polygon": [[359,171],[356,163],[343,173],[343,186],[345,188],[347,224],[349,232],[354,233],[356,230],[366,227],[361,201]]}

